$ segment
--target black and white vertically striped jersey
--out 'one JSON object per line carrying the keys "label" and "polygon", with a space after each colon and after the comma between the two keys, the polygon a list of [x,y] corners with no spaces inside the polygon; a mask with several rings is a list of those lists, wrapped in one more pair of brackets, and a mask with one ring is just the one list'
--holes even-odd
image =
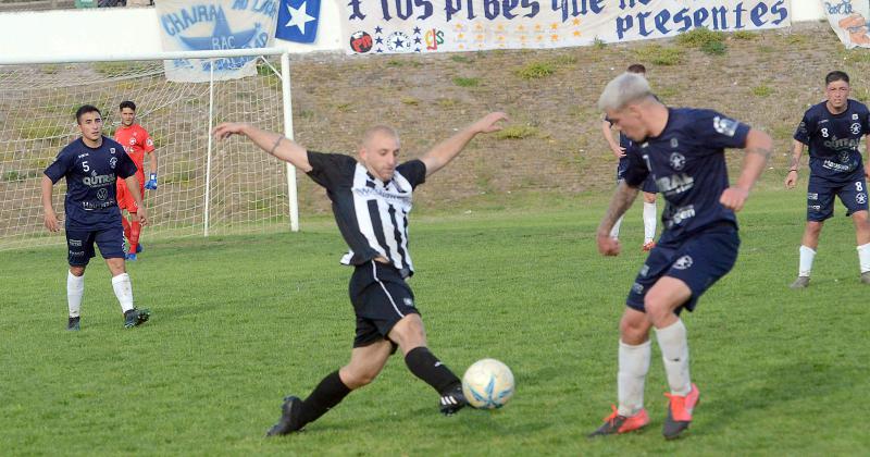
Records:
{"label": "black and white vertically striped jersey", "polygon": [[408,214],[413,189],[426,180],[426,165],[420,160],[405,162],[385,183],[349,156],[308,151],[308,175],[326,188],[335,222],[350,248],[341,263],[359,265],[384,257],[402,277],[412,275]]}

